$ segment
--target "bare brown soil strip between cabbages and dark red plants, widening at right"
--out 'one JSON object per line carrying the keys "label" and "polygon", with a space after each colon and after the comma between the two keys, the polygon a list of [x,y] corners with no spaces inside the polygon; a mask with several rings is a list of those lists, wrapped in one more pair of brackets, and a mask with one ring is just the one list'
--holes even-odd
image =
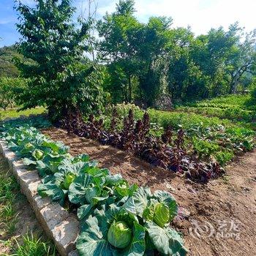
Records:
{"label": "bare brown soil strip between cabbages and dark red plants, widening at right", "polygon": [[71,154],[89,154],[100,166],[121,173],[131,183],[175,195],[184,210],[174,225],[184,234],[189,255],[256,255],[256,151],[228,166],[224,178],[201,185],[61,129],[43,132],[63,141]]}

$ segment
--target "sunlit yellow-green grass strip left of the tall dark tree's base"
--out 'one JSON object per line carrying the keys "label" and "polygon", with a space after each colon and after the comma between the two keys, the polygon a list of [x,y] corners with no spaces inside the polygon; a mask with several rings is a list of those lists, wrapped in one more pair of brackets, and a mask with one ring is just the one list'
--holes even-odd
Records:
{"label": "sunlit yellow-green grass strip left of the tall dark tree's base", "polygon": [[0,121],[5,118],[17,118],[19,116],[29,116],[29,115],[38,115],[45,113],[46,109],[42,107],[31,108],[28,110],[18,111],[17,108],[9,109],[9,110],[0,110]]}

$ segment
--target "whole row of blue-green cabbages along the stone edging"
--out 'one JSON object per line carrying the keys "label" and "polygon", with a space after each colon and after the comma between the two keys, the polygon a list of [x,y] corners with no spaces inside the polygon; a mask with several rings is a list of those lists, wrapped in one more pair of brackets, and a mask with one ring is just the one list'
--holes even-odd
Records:
{"label": "whole row of blue-green cabbages along the stone edging", "polygon": [[170,227],[178,212],[170,193],[129,185],[88,155],[72,157],[67,146],[33,127],[10,128],[1,136],[28,170],[38,170],[39,195],[75,208],[79,255],[187,255],[181,236]]}

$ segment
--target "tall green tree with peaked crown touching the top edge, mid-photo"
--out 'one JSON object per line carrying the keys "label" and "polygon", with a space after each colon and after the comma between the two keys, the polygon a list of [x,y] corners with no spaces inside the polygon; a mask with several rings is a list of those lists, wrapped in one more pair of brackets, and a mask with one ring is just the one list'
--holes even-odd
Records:
{"label": "tall green tree with peaked crown touching the top edge, mid-photo", "polygon": [[99,37],[99,59],[108,64],[112,74],[108,88],[114,95],[114,102],[132,101],[132,79],[137,72],[135,43],[140,23],[134,17],[134,1],[119,1],[116,12],[108,13],[99,20],[97,29]]}

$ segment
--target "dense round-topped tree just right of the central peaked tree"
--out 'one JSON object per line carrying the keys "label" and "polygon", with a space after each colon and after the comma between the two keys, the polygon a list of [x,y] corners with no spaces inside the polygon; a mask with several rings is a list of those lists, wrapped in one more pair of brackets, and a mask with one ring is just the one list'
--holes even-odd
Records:
{"label": "dense round-topped tree just right of the central peaked tree", "polygon": [[168,50],[172,43],[171,18],[152,17],[138,34],[139,88],[145,105],[153,106],[157,97],[165,94]]}

